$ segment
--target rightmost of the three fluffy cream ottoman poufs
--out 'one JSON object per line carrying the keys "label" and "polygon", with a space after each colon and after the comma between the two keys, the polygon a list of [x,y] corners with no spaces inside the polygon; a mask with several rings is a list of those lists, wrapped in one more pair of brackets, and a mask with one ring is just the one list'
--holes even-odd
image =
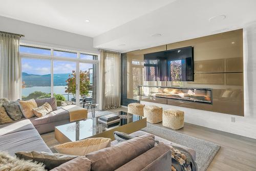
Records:
{"label": "rightmost of the three fluffy cream ottoman poufs", "polygon": [[184,112],[168,109],[163,111],[163,126],[179,130],[184,126]]}

